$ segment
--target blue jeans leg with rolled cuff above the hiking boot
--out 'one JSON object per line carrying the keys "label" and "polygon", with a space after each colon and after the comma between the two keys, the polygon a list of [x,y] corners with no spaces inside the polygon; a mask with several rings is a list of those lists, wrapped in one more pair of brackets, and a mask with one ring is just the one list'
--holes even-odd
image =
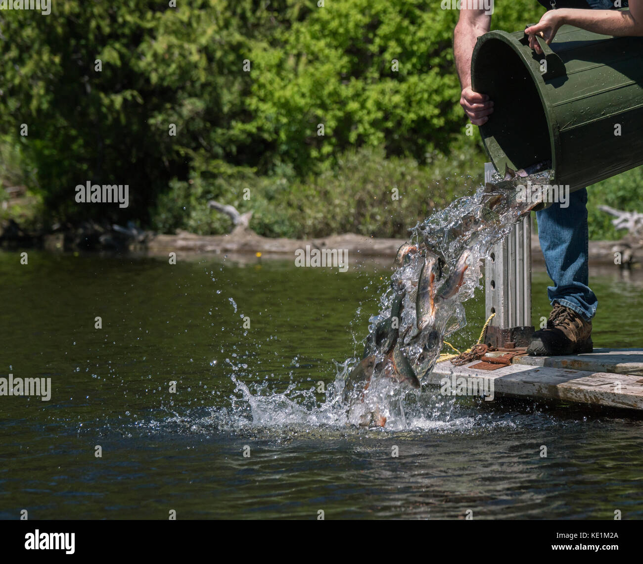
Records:
{"label": "blue jeans leg with rolled cuff above the hiking boot", "polygon": [[549,301],[573,309],[585,320],[596,313],[598,300],[589,284],[587,189],[569,196],[569,206],[554,203],[536,212],[538,239],[545,256],[547,274],[554,286],[547,287]]}

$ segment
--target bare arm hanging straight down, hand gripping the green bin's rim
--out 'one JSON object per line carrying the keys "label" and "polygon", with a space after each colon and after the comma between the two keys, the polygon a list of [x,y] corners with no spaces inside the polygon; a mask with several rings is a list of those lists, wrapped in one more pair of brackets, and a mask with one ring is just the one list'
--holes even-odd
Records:
{"label": "bare arm hanging straight down, hand gripping the green bin's rim", "polygon": [[489,101],[489,96],[471,90],[471,53],[478,37],[487,33],[490,27],[491,15],[485,14],[484,10],[462,8],[453,32],[455,68],[462,86],[460,105],[474,125],[487,122],[487,116],[493,113],[493,102]]}

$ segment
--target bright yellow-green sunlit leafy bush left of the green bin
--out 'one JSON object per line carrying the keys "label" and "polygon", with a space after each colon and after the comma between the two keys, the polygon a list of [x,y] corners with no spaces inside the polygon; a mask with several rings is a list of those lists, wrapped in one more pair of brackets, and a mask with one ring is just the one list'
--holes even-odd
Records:
{"label": "bright yellow-green sunlit leafy bush left of the green bin", "polygon": [[280,49],[255,48],[247,104],[260,119],[235,129],[304,174],[355,146],[417,159],[445,149],[463,121],[453,104],[454,25],[454,12],[409,0],[315,10],[275,33]]}

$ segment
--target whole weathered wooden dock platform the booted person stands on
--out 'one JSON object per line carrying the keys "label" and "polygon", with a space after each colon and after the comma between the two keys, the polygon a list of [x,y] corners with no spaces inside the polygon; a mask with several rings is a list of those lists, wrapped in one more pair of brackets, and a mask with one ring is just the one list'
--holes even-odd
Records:
{"label": "whole weathered wooden dock platform the booted person stands on", "polygon": [[574,356],[518,356],[507,367],[476,370],[473,361],[435,365],[429,383],[445,376],[493,379],[494,395],[557,399],[643,410],[643,349],[594,349]]}

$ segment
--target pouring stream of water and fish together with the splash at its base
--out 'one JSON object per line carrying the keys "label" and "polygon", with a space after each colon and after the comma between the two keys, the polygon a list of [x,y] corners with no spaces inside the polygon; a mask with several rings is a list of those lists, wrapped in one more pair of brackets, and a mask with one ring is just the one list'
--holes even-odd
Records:
{"label": "pouring stream of water and fish together with the splash at its base", "polygon": [[[444,338],[466,325],[463,303],[480,287],[482,260],[491,247],[545,201],[550,163],[539,163],[480,186],[413,228],[398,251],[398,268],[369,319],[363,358],[336,365],[319,403],[314,390],[253,394],[233,378],[253,424],[383,427],[448,425],[453,399],[420,394]],[[532,190],[529,195],[525,190]],[[525,197],[527,196],[527,197]],[[410,393],[415,392],[415,393]]]}

